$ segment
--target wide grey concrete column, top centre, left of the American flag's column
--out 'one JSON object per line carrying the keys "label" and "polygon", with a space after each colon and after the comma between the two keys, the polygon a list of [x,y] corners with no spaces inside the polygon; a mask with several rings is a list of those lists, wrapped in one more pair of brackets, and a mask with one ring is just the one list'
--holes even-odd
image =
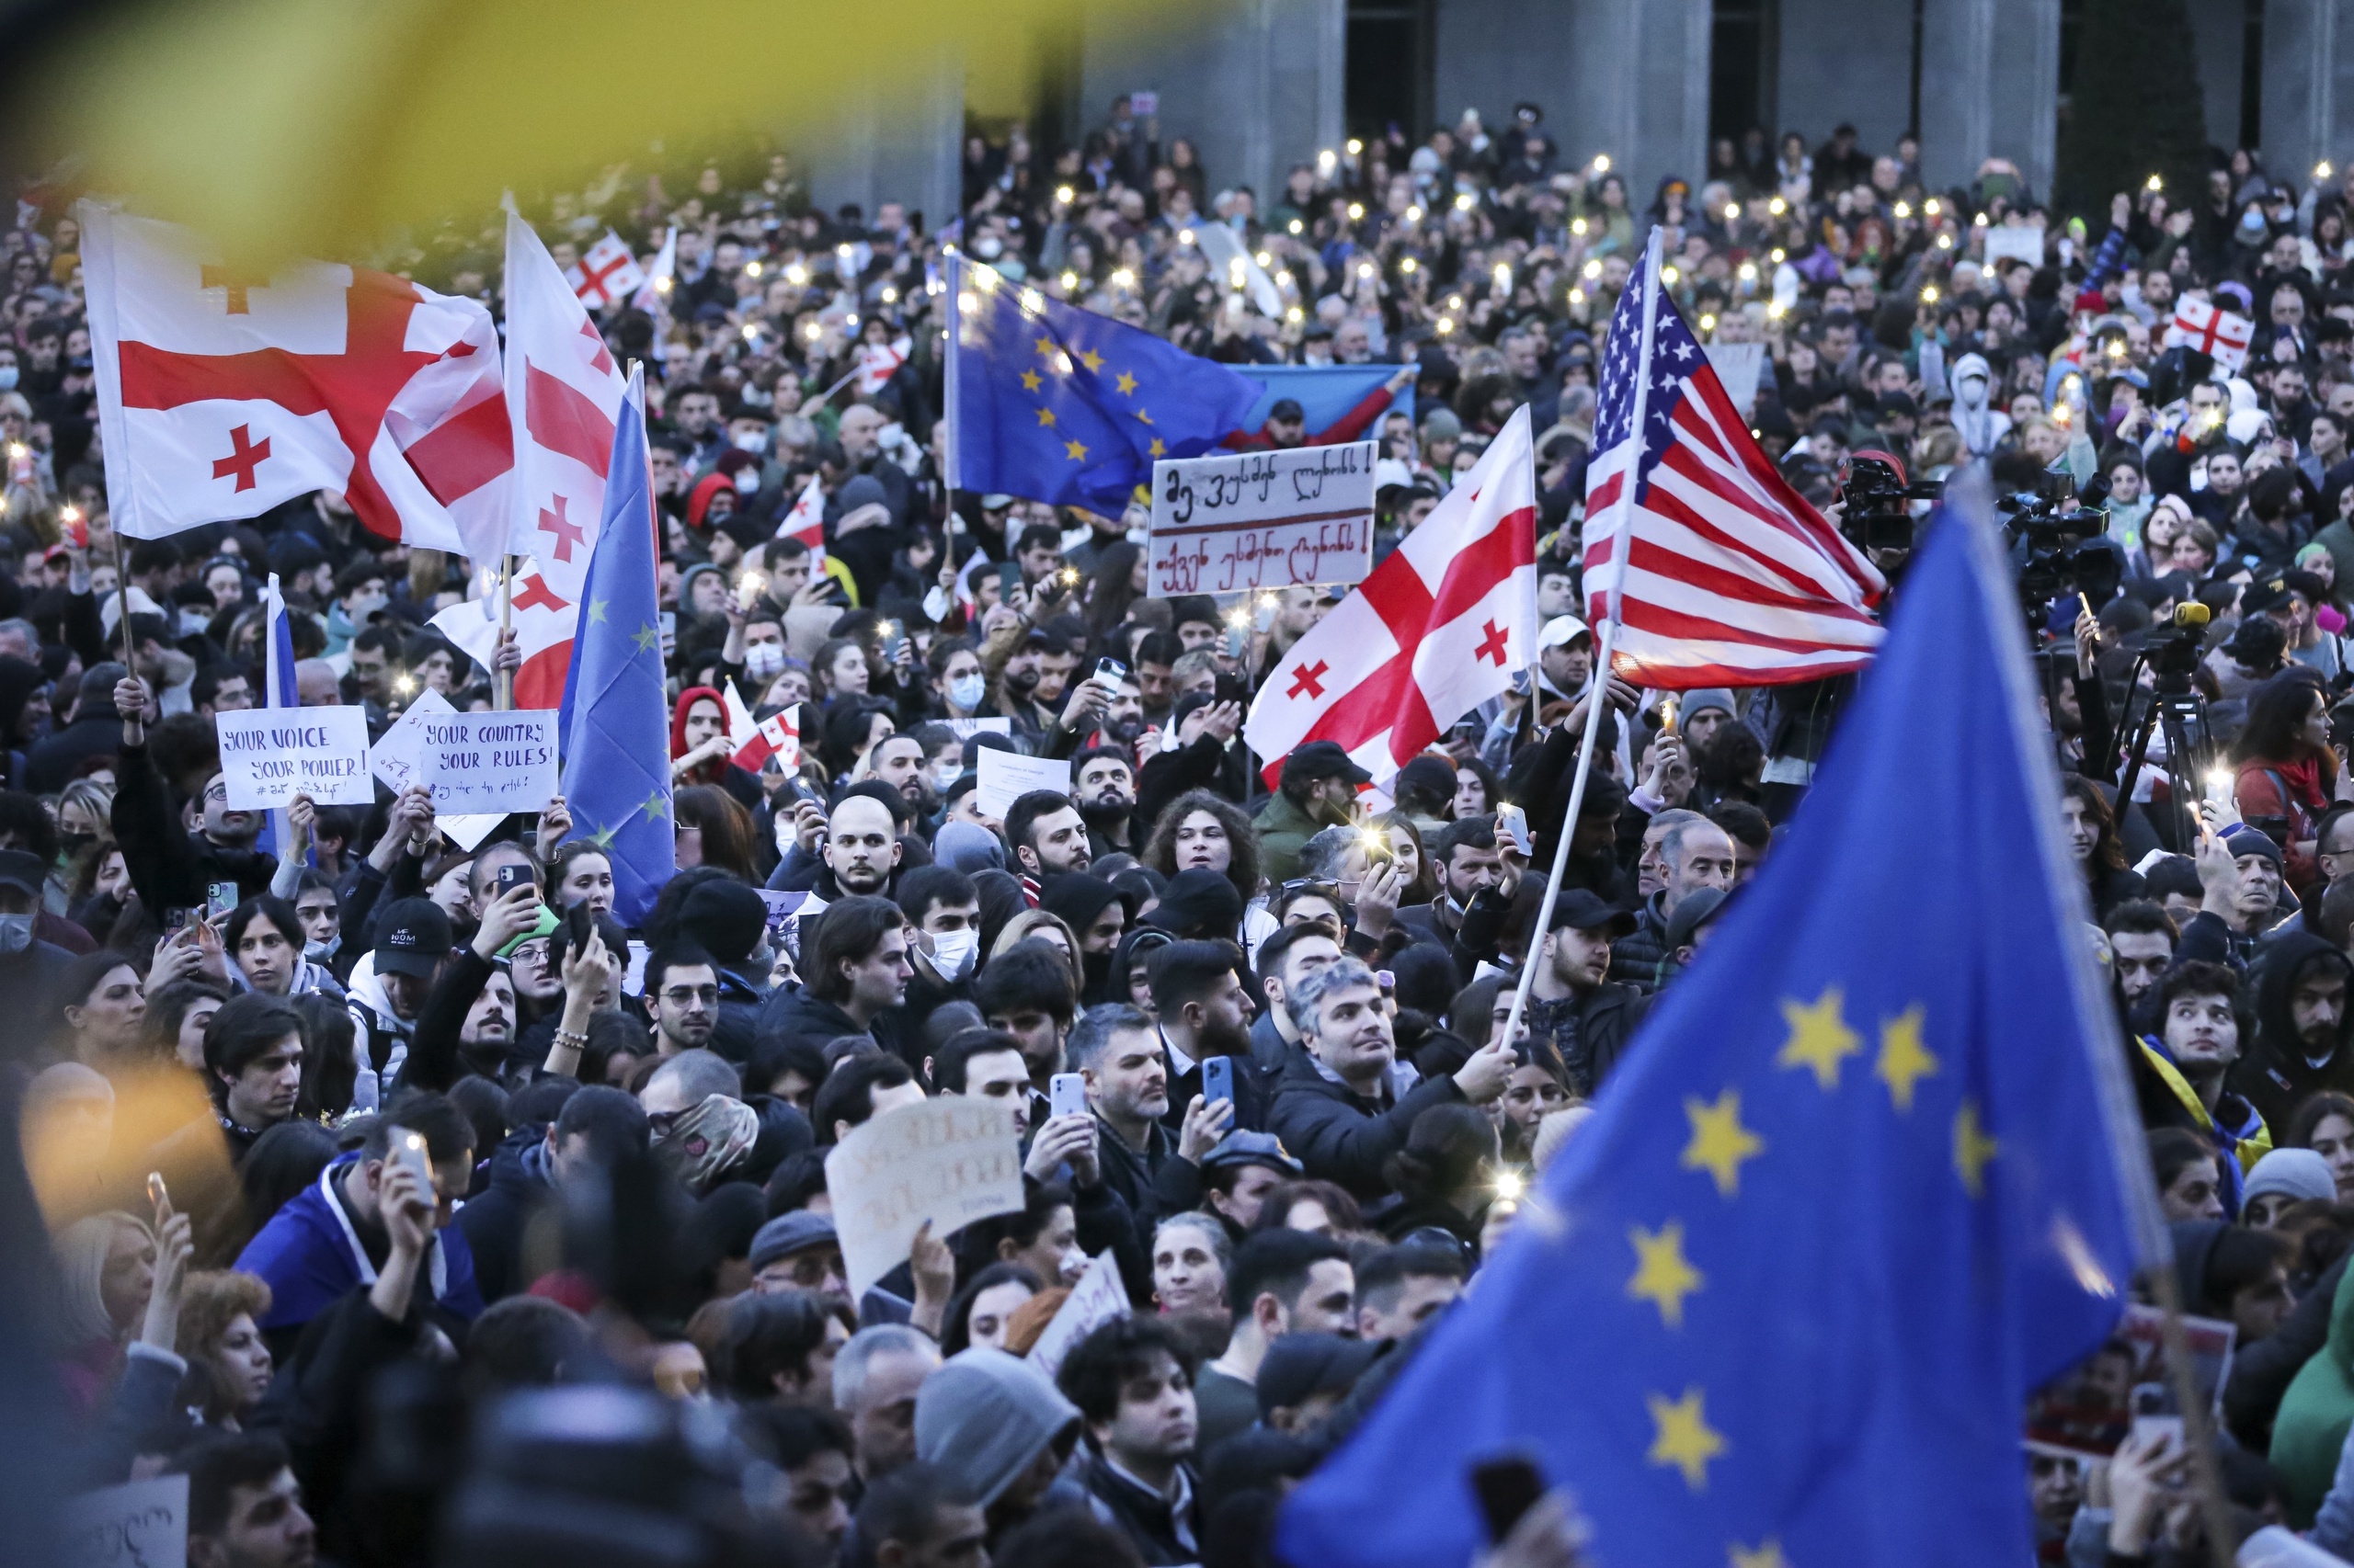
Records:
{"label": "wide grey concrete column, top centre, left of the American flag's column", "polygon": [[1158,92],[1163,153],[1186,137],[1212,195],[1245,184],[1264,210],[1292,162],[1342,141],[1346,28],[1346,0],[1236,0],[1163,26],[1090,12],[1080,118],[1095,125],[1123,92]]}

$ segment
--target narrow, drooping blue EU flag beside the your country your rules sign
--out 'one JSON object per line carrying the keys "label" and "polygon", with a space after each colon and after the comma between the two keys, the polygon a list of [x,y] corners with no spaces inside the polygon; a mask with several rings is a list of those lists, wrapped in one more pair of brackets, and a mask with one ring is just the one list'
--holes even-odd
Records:
{"label": "narrow, drooping blue EU flag beside the your country your rules sign", "polygon": [[631,370],[612,428],[605,518],[581,586],[560,727],[572,838],[605,850],[612,911],[624,925],[638,925],[652,913],[661,883],[678,871],[643,370]]}

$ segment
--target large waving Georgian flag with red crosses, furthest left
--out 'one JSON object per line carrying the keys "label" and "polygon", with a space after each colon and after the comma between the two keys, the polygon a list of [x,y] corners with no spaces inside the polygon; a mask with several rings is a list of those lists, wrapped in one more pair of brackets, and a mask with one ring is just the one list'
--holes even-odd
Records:
{"label": "large waving Georgian flag with red crosses, furthest left", "polygon": [[80,202],[115,527],[162,539],[315,490],[459,549],[513,469],[490,311],[327,261],[221,266],[174,224]]}

